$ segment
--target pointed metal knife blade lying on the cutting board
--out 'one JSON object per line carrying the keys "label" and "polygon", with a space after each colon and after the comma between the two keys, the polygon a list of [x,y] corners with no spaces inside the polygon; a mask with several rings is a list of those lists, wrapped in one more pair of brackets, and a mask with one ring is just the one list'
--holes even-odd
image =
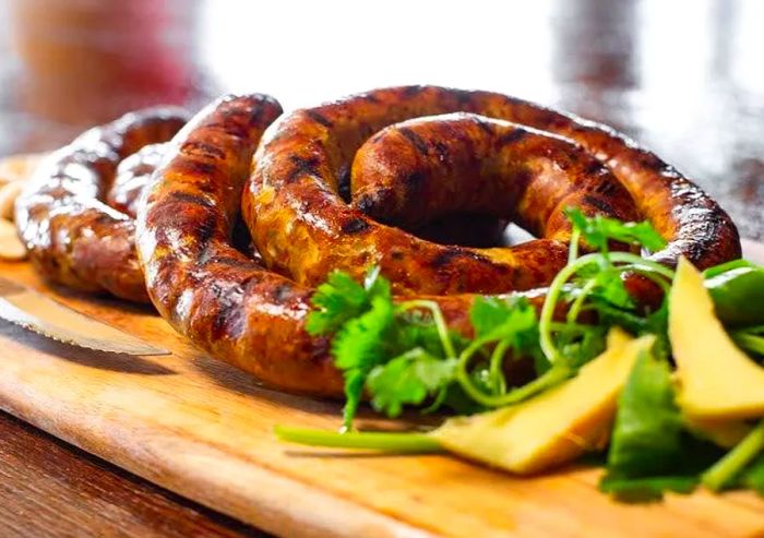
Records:
{"label": "pointed metal knife blade lying on the cutting board", "polygon": [[127,355],[170,355],[0,276],[0,318],[64,344]]}

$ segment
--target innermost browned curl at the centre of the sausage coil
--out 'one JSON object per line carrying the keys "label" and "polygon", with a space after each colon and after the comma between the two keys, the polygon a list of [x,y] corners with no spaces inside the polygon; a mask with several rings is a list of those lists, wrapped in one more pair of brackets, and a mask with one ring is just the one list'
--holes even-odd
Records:
{"label": "innermost browned curl at the centre of the sausage coil", "polygon": [[629,192],[577,144],[464,112],[404,121],[369,139],[353,164],[351,194],[365,214],[396,226],[474,212],[559,241],[570,240],[566,206],[637,218]]}

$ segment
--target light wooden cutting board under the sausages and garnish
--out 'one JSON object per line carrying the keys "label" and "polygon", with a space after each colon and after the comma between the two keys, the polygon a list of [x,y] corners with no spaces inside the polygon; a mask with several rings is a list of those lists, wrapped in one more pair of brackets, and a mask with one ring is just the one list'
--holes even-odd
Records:
{"label": "light wooden cutting board under the sausages and garnish", "polygon": [[[764,248],[749,255],[764,261]],[[284,445],[276,423],[336,428],[339,405],[262,388],[193,349],[150,309],[61,295],[25,263],[0,274],[174,351],[68,347],[0,320],[0,407],[165,488],[295,537],[764,536],[764,501],[700,491],[624,505],[597,469],[513,478],[446,456]]]}

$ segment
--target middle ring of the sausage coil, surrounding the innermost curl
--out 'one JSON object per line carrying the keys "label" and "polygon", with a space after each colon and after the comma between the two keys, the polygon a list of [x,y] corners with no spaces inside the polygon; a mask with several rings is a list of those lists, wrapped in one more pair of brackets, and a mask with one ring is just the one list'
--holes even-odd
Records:
{"label": "middle ring of the sausage coil, surrounding the innermost curl", "polygon": [[[565,263],[566,244],[557,240],[565,238],[562,224],[536,223],[532,230],[552,230],[553,239],[545,237],[501,251],[444,247],[378,223],[341,198],[348,190],[354,156],[373,133],[408,119],[458,111],[564,136],[607,165],[633,198],[637,216],[649,219],[668,240],[668,247],[653,259],[671,265],[685,255],[705,267],[740,255],[737,229],[713,200],[611,129],[500,94],[407,86],[298,110],[268,130],[242,200],[244,219],[265,262],[306,285],[323,280],[337,267],[360,277],[365,267],[379,264],[395,289],[406,294],[501,292],[547,284]],[[459,131],[458,136],[464,139],[463,147],[476,143],[475,134]],[[437,169],[437,146],[427,139],[410,139],[417,152],[413,158],[420,166],[429,163],[427,169]],[[422,168],[408,171],[416,175]],[[551,181],[546,190],[551,192],[572,182],[561,178],[564,175],[537,174],[533,182]],[[587,213],[594,208],[618,216],[613,206],[622,189],[608,184],[612,183],[604,181],[599,192],[594,186],[587,192],[582,200]],[[558,223],[560,208],[550,213]],[[517,214],[545,212],[542,201],[537,201]]]}

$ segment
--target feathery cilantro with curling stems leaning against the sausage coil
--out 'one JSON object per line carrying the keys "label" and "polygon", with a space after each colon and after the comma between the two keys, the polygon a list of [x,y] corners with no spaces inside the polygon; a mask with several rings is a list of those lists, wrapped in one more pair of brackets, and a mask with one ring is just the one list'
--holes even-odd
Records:
{"label": "feathery cilantro with curling stems leaning against the sausage coil", "polygon": [[[573,375],[604,349],[610,325],[628,325],[635,333],[654,328],[635,311],[621,276],[632,271],[659,279],[670,278],[671,272],[634,254],[610,253],[608,244],[658,249],[664,244],[660,236],[646,223],[586,217],[577,210],[566,214],[574,236],[599,252],[572,260],[558,275],[540,319],[523,297],[477,297],[469,312],[471,340],[449,331],[433,301],[395,303],[379,267],[369,270],[362,284],[346,273],[332,273],[313,296],[315,311],[307,328],[332,336],[334,361],[345,376],[345,429],[351,428],[365,392],[374,409],[391,417],[427,400],[430,410],[456,407],[456,402],[465,409],[465,396],[473,410],[510,405]],[[562,298],[570,301],[565,323],[552,320]],[[598,312],[599,324],[578,323],[587,310]],[[517,358],[530,358],[537,373],[521,386],[505,375],[506,361]]]}

